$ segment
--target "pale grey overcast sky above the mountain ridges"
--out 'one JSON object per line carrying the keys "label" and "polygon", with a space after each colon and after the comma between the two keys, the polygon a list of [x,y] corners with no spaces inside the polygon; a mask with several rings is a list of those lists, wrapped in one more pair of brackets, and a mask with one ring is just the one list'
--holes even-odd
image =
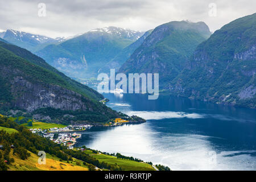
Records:
{"label": "pale grey overcast sky above the mountain ridges", "polygon": [[0,31],[72,36],[108,26],[147,31],[173,20],[204,21],[215,31],[255,7],[255,0],[0,0]]}

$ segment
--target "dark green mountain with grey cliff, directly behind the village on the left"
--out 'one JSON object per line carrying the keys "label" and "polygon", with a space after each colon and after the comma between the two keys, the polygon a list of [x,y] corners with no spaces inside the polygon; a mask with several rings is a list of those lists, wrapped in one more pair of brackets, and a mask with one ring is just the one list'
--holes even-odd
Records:
{"label": "dark green mountain with grey cliff, directly behind the village on the left", "polygon": [[0,42],[0,111],[18,109],[54,122],[107,122],[120,117],[104,97],[26,49]]}

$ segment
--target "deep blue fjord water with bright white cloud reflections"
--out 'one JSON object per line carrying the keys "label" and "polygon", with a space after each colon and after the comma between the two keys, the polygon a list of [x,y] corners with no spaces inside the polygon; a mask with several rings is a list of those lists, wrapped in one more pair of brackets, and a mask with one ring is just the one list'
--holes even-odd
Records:
{"label": "deep blue fjord water with bright white cloud reflections", "polygon": [[105,94],[108,106],[147,119],[93,127],[78,145],[141,158],[173,170],[256,169],[256,111],[172,96]]}

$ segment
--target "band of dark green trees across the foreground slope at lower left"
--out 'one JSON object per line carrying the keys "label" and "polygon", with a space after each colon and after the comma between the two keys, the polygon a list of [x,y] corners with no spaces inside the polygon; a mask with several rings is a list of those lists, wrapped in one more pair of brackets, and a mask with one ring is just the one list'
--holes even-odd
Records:
{"label": "band of dark green trees across the foreground slope at lower left", "polygon": [[0,118],[0,126],[18,131],[18,133],[12,134],[6,133],[3,130],[0,131],[0,143],[3,146],[2,150],[0,150],[0,169],[2,170],[7,170],[9,165],[15,164],[14,159],[10,158],[11,146],[14,147],[13,154],[16,154],[22,160],[28,159],[31,155],[30,152],[37,155],[38,151],[45,151],[47,154],[54,155],[67,162],[72,162],[73,158],[82,160],[84,164],[88,164],[89,169],[93,169],[95,166],[112,170],[121,169],[112,164],[101,163],[82,151],[68,150],[65,146],[56,144],[39,135],[32,134],[26,127],[20,126],[6,117]]}

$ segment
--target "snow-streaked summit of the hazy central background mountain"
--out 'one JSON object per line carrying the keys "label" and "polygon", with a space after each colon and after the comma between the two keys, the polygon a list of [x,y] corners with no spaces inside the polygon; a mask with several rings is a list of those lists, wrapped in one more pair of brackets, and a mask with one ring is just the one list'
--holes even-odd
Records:
{"label": "snow-streaked summit of the hazy central background mountain", "polygon": [[141,31],[134,31],[134,30],[119,28],[119,27],[96,28],[96,29],[90,30],[89,32],[106,32],[108,34],[118,35],[122,38],[130,39],[130,40],[138,40],[144,34],[144,32],[141,32]]}

